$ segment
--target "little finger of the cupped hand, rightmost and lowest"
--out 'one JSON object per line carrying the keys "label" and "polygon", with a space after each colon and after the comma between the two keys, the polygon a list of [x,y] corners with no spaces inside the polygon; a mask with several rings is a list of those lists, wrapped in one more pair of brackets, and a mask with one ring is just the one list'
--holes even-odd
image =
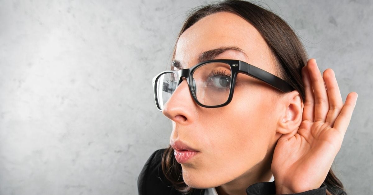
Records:
{"label": "little finger of the cupped hand, rightmost and lowest", "polygon": [[342,107],[341,113],[337,119],[335,119],[335,123],[333,128],[338,129],[342,135],[345,135],[348,124],[350,124],[352,111],[354,111],[355,105],[357,101],[357,93],[351,92],[347,95],[346,101],[344,106]]}

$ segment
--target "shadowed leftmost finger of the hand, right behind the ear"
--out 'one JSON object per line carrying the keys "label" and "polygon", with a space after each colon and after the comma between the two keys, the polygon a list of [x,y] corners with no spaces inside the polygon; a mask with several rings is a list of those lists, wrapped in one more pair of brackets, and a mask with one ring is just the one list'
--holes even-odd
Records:
{"label": "shadowed leftmost finger of the hand, right behind the ear", "polygon": [[304,108],[303,108],[303,120],[308,120],[314,122],[314,109],[315,109],[315,100],[313,89],[311,86],[310,75],[308,74],[307,67],[302,68],[302,80],[304,85],[304,92],[305,92],[305,101],[304,101]]}

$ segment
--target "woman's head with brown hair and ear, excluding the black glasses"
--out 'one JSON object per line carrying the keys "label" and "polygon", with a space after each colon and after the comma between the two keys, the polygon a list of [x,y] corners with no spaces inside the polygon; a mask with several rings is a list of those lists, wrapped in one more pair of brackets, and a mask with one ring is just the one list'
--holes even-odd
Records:
{"label": "woman's head with brown hair and ear, excluding the black glasses", "polygon": [[188,186],[245,186],[248,181],[268,181],[278,138],[297,130],[301,123],[301,68],[307,55],[286,22],[245,1],[198,7],[179,33],[173,60],[181,62],[183,69],[189,68],[198,63],[201,53],[216,49],[220,54],[214,59],[250,63],[282,78],[296,90],[282,93],[239,73],[231,103],[205,108],[194,102],[186,81],[181,82],[163,108],[163,114],[173,122],[170,142],[182,141],[199,152],[181,164],[183,180],[178,179],[180,164],[175,162],[172,148],[165,152],[163,171],[179,190],[183,186],[188,191]]}

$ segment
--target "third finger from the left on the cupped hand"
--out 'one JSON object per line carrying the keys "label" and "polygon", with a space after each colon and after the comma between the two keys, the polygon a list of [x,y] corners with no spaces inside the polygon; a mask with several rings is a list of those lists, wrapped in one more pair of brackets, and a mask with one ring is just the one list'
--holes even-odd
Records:
{"label": "third finger from the left on the cupped hand", "polygon": [[342,96],[334,71],[330,68],[326,69],[323,73],[323,77],[327,89],[327,96],[329,98],[329,111],[326,116],[326,122],[329,123],[330,126],[333,126],[335,119],[338,117],[343,107]]}

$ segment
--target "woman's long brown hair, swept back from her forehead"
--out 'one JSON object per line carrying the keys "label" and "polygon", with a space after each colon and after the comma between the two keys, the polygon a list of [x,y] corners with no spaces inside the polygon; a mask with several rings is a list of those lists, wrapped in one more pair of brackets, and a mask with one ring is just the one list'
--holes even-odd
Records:
{"label": "woman's long brown hair, swept back from her forehead", "polygon": [[[225,0],[193,9],[176,38],[172,60],[175,58],[176,44],[181,34],[200,19],[217,12],[231,12],[239,15],[259,31],[272,50],[277,65],[277,76],[292,85],[301,94],[304,102],[305,92],[301,69],[307,64],[308,55],[303,44],[292,28],[278,15],[247,1]],[[185,184],[181,165],[175,160],[173,148],[170,146],[162,156],[162,170],[179,192],[189,194],[198,190]],[[327,186],[327,195],[336,193],[338,188],[344,190],[342,182],[335,176],[332,169],[329,170],[324,184]]]}

